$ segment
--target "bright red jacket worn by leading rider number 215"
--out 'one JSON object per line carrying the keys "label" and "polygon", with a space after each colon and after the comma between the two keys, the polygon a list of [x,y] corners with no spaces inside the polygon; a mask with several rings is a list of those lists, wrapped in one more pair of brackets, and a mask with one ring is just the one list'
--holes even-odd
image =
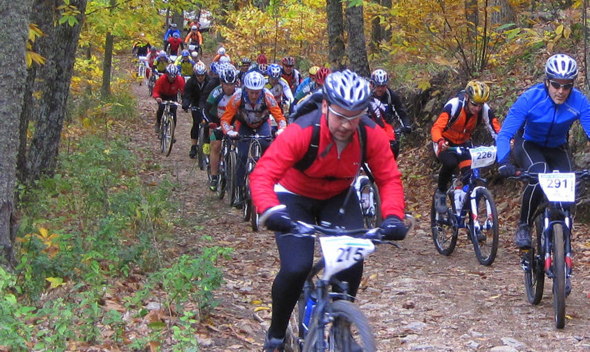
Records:
{"label": "bright red jacket worn by leading rider number 215", "polygon": [[[275,184],[313,199],[329,199],[351,186],[360,162],[358,132],[338,155],[325,115],[320,119],[320,146],[315,161],[304,171],[293,168],[309,148],[315,116],[314,113],[304,115],[289,125],[270,144],[250,175],[252,201],[259,213],[280,204]],[[362,119],[367,130],[365,160],[379,187],[382,215],[384,218],[397,215],[403,219],[405,204],[401,174],[389,148],[389,137],[374,121],[368,117]]]}

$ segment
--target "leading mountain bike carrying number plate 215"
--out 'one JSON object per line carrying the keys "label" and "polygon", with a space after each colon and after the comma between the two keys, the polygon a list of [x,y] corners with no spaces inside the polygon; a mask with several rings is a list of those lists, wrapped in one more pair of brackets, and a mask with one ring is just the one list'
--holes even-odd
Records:
{"label": "leading mountain bike carrying number plate 215", "polygon": [[[414,227],[409,217],[408,232]],[[295,234],[286,236],[320,237],[322,258],[309,273],[297,309],[287,331],[286,346],[292,351],[377,351],[377,344],[365,313],[352,302],[347,282],[335,278],[337,273],[350,268],[375,251],[375,244],[394,244],[383,241],[380,228],[344,230],[325,228],[297,222]],[[323,270],[322,276],[317,277]],[[316,278],[317,277],[317,278]],[[330,287],[338,291],[330,291]],[[287,349],[286,349],[287,351]]]}

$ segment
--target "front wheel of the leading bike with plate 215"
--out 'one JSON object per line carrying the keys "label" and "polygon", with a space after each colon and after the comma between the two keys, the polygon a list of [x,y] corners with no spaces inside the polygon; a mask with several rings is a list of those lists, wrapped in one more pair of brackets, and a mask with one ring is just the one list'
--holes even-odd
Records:
{"label": "front wheel of the leading bike with plate 215", "polygon": [[[377,342],[369,320],[358,306],[344,300],[332,302],[332,316],[334,320],[325,326],[326,336],[317,334],[317,315],[313,317],[305,337],[303,352],[377,351]],[[317,348],[319,339],[324,339],[326,349]]]}

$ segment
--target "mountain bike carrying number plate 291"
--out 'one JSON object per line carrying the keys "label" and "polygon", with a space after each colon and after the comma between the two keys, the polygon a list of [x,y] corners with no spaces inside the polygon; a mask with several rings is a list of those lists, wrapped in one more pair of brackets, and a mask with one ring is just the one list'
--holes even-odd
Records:
{"label": "mountain bike carrying number plate 291", "polygon": [[569,206],[575,203],[575,186],[580,180],[590,179],[590,170],[572,173],[528,173],[521,171],[517,179],[537,180],[545,195],[531,217],[532,248],[522,249],[521,266],[524,270],[526,297],[531,304],[539,304],[543,297],[545,275],[553,279],[553,308],[555,327],[565,326],[565,298],[571,292],[571,224]]}

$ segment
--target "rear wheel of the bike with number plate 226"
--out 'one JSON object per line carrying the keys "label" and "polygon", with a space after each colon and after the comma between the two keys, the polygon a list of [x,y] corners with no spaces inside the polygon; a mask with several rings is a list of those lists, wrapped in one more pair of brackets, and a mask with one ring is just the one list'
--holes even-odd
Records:
{"label": "rear wheel of the bike with number plate 226", "polygon": [[436,251],[442,255],[451,255],[457,246],[457,235],[459,234],[457,218],[453,214],[452,208],[449,208],[445,214],[439,214],[434,208],[434,198],[430,208],[430,227]]}

